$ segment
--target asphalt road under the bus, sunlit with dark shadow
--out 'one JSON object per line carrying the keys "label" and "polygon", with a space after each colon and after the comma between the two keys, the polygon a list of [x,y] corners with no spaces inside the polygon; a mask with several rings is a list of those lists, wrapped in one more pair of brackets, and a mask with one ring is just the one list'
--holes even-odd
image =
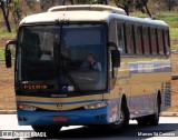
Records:
{"label": "asphalt road under the bus, sunlit with dark shadow", "polygon": [[[129,127],[125,132],[109,131],[87,128],[82,126],[63,127],[59,136],[53,139],[61,140],[122,140],[122,139],[149,139],[149,140],[177,140],[178,139],[178,117],[160,117],[159,126],[157,127],[139,127],[136,121],[130,121]],[[16,114],[0,114],[0,136],[3,131],[32,131],[30,126],[18,126]],[[18,132],[19,132],[18,131]],[[0,139],[17,139],[18,137],[1,137]],[[27,137],[21,139],[41,139],[40,137]],[[47,138],[44,138],[47,139]]]}

